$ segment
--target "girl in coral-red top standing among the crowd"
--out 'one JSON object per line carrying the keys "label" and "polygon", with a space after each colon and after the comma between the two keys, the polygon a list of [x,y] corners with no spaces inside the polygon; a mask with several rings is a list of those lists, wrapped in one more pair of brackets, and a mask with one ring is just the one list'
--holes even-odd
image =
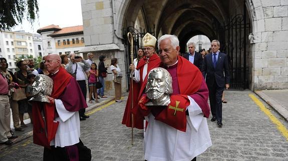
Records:
{"label": "girl in coral-red top standing among the crowd", "polygon": [[[98,77],[97,65],[96,65],[96,63],[92,63],[90,70],[88,72],[88,86],[90,89],[89,103],[93,103],[93,101],[92,101],[92,94],[93,93],[95,96],[97,96],[97,89],[96,89],[97,77]],[[97,100],[97,97],[95,97],[95,103],[99,103],[99,101]]]}

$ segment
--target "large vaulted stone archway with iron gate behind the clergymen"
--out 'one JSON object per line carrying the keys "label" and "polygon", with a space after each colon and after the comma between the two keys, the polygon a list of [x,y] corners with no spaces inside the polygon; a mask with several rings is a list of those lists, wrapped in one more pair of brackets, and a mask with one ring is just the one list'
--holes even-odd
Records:
{"label": "large vaulted stone archway with iron gate behind the clergymen", "polygon": [[230,57],[230,87],[249,88],[251,26],[245,0],[126,0],[122,13],[118,28],[123,35],[128,26],[138,21],[146,31],[155,28],[158,38],[163,34],[178,36],[181,53],[195,35],[218,39],[220,50]]}

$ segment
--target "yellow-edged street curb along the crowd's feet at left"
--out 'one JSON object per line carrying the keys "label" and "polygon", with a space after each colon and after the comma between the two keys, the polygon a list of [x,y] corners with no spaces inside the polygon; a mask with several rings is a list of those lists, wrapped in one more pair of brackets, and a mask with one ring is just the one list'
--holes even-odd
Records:
{"label": "yellow-edged street curb along the crowd's feet at left", "polygon": [[[95,109],[95,108],[97,108],[97,107],[106,105],[106,104],[108,104],[109,102],[111,102],[111,101],[113,101],[113,100],[115,100],[115,97],[114,97],[114,96],[109,97],[109,98],[107,98],[105,101],[102,101],[102,102],[100,102],[100,103],[98,103],[98,104],[94,104],[94,105],[92,105],[92,106],[87,107],[87,108],[86,108],[86,112],[88,112],[88,111],[90,111],[90,110],[93,110],[93,109]],[[13,141],[13,144],[12,144],[11,146],[7,146],[7,145],[2,145],[2,144],[1,144],[1,145],[0,145],[0,152],[3,153],[4,151],[6,151],[6,150],[8,150],[8,149],[10,149],[10,148],[12,148],[12,147],[14,147],[15,145],[18,145],[18,144],[21,143],[22,141],[24,141],[24,140],[26,140],[26,139],[28,139],[28,138],[30,138],[30,137],[32,137],[32,136],[33,136],[33,131],[30,131],[30,132],[24,133],[24,134],[21,135],[21,136],[18,136],[17,139],[12,140],[12,141]]]}

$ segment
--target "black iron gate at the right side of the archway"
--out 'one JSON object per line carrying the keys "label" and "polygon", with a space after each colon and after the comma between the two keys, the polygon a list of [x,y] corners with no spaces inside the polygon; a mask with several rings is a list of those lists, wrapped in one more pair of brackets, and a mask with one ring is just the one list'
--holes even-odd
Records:
{"label": "black iron gate at the right side of the archway", "polygon": [[[246,65],[247,46],[249,45],[248,33],[250,29],[249,19],[244,14],[235,14],[229,18],[227,25],[221,26],[213,22],[213,29],[219,38],[221,48],[228,55],[230,70],[230,89],[244,90],[248,88],[248,67]],[[223,43],[224,42],[224,43]]]}

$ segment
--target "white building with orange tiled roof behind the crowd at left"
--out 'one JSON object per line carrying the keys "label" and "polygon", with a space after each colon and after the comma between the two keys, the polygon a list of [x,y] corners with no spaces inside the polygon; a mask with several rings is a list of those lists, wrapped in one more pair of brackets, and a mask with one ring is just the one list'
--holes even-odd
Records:
{"label": "white building with orange tiled roof behind the crowd at left", "polygon": [[52,24],[38,29],[37,32],[42,37],[42,56],[50,53],[69,55],[85,47],[82,25],[61,28]]}

